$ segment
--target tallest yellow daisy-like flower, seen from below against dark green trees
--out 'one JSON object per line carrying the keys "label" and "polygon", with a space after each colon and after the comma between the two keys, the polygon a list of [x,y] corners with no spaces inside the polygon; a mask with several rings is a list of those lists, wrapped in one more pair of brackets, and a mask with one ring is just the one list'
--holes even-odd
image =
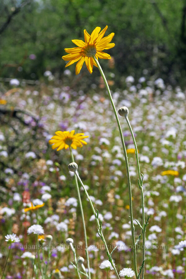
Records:
{"label": "tallest yellow daisy-like flower, seen from below against dark green trees", "polygon": [[94,55],[96,59],[110,59],[110,55],[103,52],[103,50],[110,49],[115,46],[114,43],[109,43],[111,42],[114,33],[111,33],[107,37],[103,38],[107,28],[108,26],[106,26],[100,32],[101,28],[96,27],[92,31],[91,35],[89,35],[89,33],[84,30],[85,42],[83,42],[82,40],[72,40],[72,42],[78,47],[64,49],[69,54],[62,56],[63,60],[70,60],[65,67],[68,67],[78,61],[78,63],[76,64],[76,74],[78,75],[83,63],[85,62],[87,69],[90,73],[92,73],[93,65],[97,67],[94,59],[92,58]]}

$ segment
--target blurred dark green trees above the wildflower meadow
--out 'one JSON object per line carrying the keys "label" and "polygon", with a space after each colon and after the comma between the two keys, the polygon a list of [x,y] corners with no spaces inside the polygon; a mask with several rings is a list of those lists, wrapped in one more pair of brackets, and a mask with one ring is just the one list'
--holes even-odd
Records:
{"label": "blurred dark green trees above the wildflower meadow", "polygon": [[71,39],[108,25],[116,80],[146,74],[184,86],[185,21],[184,0],[0,0],[0,77],[36,80],[50,70],[60,79]]}

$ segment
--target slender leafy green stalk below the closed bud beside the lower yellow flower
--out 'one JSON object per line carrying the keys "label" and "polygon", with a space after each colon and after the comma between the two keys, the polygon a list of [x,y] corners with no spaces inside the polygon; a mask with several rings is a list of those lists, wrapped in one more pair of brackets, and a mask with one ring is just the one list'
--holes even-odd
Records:
{"label": "slender leafy green stalk below the closed bud beside the lower yellow flower", "polygon": [[[74,170],[70,169],[70,170],[71,170],[71,171],[74,171],[75,169],[74,169]],[[118,275],[118,273],[117,273],[117,269],[116,269],[116,267],[115,267],[115,264],[114,264],[114,262],[113,262],[112,255],[109,253],[109,250],[108,250],[108,247],[107,247],[107,243],[106,243],[106,241],[105,241],[105,239],[104,239],[104,235],[103,235],[103,232],[102,232],[102,222],[99,222],[99,217],[98,217],[98,215],[97,215],[96,212],[95,212],[95,209],[94,209],[94,206],[93,206],[93,204],[92,204],[91,198],[89,197],[89,194],[88,194],[88,192],[86,191],[85,186],[84,186],[84,184],[83,184],[81,178],[79,177],[77,170],[74,171],[74,173],[75,173],[76,177],[78,178],[80,184],[82,185],[82,187],[83,187],[83,189],[84,189],[84,191],[85,191],[86,197],[88,198],[88,200],[89,200],[89,202],[90,202],[90,205],[91,205],[91,208],[92,208],[92,211],[93,211],[93,213],[94,213],[95,220],[96,220],[96,223],[97,223],[97,226],[98,226],[98,233],[99,233],[99,235],[100,235],[100,237],[101,237],[101,240],[102,240],[103,243],[104,243],[105,249],[106,249],[106,251],[107,251],[108,259],[109,259],[110,263],[112,264],[112,267],[113,267],[113,269],[114,269],[114,271],[115,271],[115,273],[116,273],[117,278],[120,279],[120,277],[119,277],[119,275]]]}

